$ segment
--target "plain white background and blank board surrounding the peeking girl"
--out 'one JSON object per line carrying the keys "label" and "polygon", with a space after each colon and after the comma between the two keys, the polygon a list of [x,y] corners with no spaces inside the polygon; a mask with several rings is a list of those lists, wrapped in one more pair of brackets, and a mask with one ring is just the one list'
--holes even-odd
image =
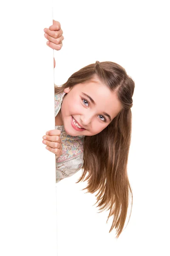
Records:
{"label": "plain white background and blank board surrounding the peeking girl", "polygon": [[[0,6],[0,255],[168,256],[168,1],[60,2]],[[52,18],[65,38],[54,51],[55,69],[43,31]],[[42,144],[55,128],[54,81],[61,85],[95,61],[116,62],[135,81],[128,161],[133,209],[117,240],[114,230],[108,233],[109,212],[97,213],[95,195],[82,191],[86,182],[75,184],[82,171],[56,187],[55,156]]]}

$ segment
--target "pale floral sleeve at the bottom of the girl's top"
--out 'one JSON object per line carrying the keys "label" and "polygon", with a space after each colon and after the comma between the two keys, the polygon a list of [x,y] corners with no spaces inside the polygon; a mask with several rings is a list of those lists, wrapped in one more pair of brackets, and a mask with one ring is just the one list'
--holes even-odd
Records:
{"label": "pale floral sleeve at the bottom of the girl's top", "polygon": [[60,180],[71,177],[78,172],[83,166],[83,154],[79,154],[77,157],[67,160],[65,162],[57,163],[56,157],[56,183]]}

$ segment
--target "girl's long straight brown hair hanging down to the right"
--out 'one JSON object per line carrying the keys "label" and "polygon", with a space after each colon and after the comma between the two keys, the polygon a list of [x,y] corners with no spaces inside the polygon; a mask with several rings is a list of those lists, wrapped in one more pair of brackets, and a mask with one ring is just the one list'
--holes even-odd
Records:
{"label": "girl's long straight brown hair hanging down to the right", "polygon": [[112,215],[114,218],[109,233],[115,228],[116,238],[118,238],[125,225],[130,195],[130,215],[133,204],[132,189],[127,175],[127,161],[132,127],[130,108],[133,105],[135,83],[119,64],[111,61],[96,61],[75,72],[61,87],[54,85],[54,91],[60,93],[67,87],[72,88],[76,84],[91,81],[94,75],[97,75],[112,92],[116,92],[122,104],[122,110],[99,134],[85,136],[83,173],[77,183],[85,179],[88,183],[85,188],[87,192],[97,191],[95,195],[97,207],[101,212],[104,209],[110,210],[108,219]]}

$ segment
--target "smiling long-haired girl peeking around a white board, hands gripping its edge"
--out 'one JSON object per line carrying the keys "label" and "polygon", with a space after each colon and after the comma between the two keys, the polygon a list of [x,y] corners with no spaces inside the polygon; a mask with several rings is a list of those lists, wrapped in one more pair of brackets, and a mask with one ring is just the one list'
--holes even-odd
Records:
{"label": "smiling long-haired girl peeking around a white board, hands gripping its edge", "polygon": [[[61,49],[60,24],[53,21],[46,33],[49,47]],[[116,238],[125,224],[129,195],[133,202],[127,160],[134,87],[125,69],[114,62],[83,67],[62,86],[54,85],[56,126],[43,137],[48,150],[56,154],[56,182],[82,168],[77,183],[88,174],[85,189],[97,191],[101,211],[110,209],[108,218],[114,218],[109,233],[116,228]]]}

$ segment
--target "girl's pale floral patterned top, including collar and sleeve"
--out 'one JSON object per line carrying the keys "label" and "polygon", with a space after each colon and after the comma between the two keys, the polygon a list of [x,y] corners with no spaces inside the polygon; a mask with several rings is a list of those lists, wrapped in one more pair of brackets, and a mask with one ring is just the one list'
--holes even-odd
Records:
{"label": "girl's pale floral patterned top, including collar and sleeve", "polygon": [[[59,113],[62,100],[66,93],[55,93],[55,117]],[[56,125],[61,131],[62,155],[56,156],[56,183],[78,172],[83,166],[83,142],[85,135],[71,136],[65,131],[64,125]]]}

